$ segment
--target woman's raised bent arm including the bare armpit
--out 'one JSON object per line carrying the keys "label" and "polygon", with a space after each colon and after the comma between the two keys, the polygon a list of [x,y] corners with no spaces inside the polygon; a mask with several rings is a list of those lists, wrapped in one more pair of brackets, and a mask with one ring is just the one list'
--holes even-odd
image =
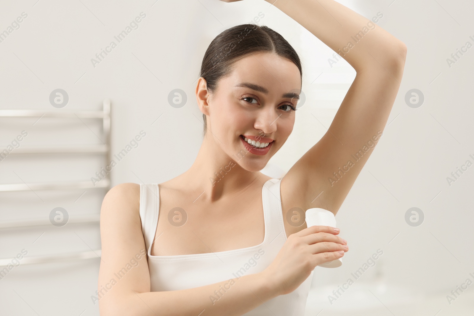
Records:
{"label": "woman's raised bent arm including the bare armpit", "polygon": [[[407,48],[382,27],[334,0],[265,1],[300,23],[356,70],[326,134],[281,182],[282,190],[294,192],[292,207],[325,208],[336,214],[387,123]],[[319,122],[315,119],[314,124]]]}

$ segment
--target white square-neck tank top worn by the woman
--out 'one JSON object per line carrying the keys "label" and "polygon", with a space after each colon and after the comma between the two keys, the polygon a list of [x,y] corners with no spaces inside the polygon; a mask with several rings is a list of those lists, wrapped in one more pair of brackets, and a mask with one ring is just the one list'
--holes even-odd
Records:
{"label": "white square-neck tank top worn by the woman", "polygon": [[[262,188],[265,236],[262,244],[217,253],[152,256],[151,243],[158,224],[159,187],[140,184],[140,219],[150,271],[151,291],[197,288],[263,271],[273,262],[286,241],[280,195],[281,179],[270,179]],[[313,272],[293,292],[255,307],[244,316],[303,316]],[[227,284],[227,285],[226,285]],[[231,282],[209,293],[209,303],[225,297]]]}

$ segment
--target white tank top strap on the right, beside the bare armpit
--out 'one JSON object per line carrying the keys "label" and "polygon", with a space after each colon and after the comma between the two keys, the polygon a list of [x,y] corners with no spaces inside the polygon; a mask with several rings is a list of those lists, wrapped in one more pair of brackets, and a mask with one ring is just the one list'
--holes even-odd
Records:
{"label": "white tank top strap on the right, beside the bare armpit", "polygon": [[268,222],[265,223],[268,224],[268,242],[273,243],[275,239],[278,239],[279,242],[275,240],[273,244],[280,244],[280,246],[287,239],[282,214],[281,181],[281,179],[270,179],[264,183],[262,188],[264,214],[268,215]]}

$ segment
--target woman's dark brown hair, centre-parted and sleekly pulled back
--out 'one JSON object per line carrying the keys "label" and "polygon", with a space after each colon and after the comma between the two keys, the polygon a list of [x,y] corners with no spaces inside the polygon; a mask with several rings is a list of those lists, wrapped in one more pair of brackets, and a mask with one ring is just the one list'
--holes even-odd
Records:
{"label": "woman's dark brown hair, centre-parted and sleekly pulled back", "polygon": [[[232,65],[247,54],[269,52],[293,62],[300,70],[300,57],[283,36],[267,26],[241,24],[221,32],[210,43],[201,63],[201,77],[206,79],[210,93],[217,89],[218,81],[232,72]],[[300,87],[301,88],[301,87]],[[203,135],[206,135],[206,115]]]}

